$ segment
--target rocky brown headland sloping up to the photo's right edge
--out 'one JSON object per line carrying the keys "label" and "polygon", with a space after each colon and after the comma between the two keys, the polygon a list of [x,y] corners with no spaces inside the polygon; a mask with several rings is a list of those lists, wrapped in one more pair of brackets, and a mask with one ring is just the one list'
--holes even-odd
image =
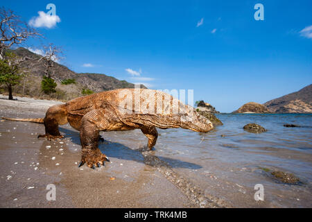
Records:
{"label": "rocky brown headland sloping up to the photo's right edge", "polygon": [[312,113],[312,84],[263,105],[276,113]]}

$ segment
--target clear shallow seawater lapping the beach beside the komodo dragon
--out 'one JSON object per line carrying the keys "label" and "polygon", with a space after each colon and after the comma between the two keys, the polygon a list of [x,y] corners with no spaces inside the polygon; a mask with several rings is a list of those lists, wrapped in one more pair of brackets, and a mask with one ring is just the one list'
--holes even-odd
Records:
{"label": "clear shallow seawater lapping the beach beside the komodo dragon", "polygon": [[[217,117],[224,125],[209,133],[158,130],[155,155],[205,194],[219,196],[234,207],[312,206],[312,114],[217,114]],[[268,132],[248,133],[243,130],[247,123],[258,123]],[[286,128],[285,123],[304,127]],[[106,139],[125,146],[146,145],[140,130],[105,135]],[[270,174],[275,170],[293,173],[300,178],[300,184],[278,182]],[[264,201],[254,200],[256,184],[264,187]]]}

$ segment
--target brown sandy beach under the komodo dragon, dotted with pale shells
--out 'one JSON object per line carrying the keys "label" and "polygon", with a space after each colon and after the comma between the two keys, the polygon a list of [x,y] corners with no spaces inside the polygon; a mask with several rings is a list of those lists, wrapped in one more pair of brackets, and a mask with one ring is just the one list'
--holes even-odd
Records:
{"label": "brown sandy beach under the komodo dragon, dotted with pale shells", "polygon": [[[0,117],[44,117],[57,103],[0,96]],[[230,207],[204,194],[154,151],[110,141],[105,133],[100,149],[111,162],[96,171],[78,168],[78,131],[67,124],[60,132],[65,139],[50,142],[37,139],[44,134],[42,124],[0,121],[0,207]],[[56,187],[55,201],[46,200],[49,184]]]}

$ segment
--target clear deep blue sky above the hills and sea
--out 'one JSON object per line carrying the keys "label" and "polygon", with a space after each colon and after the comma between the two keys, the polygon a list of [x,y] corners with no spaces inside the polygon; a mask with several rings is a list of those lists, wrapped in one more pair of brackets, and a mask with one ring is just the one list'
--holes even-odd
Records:
{"label": "clear deep blue sky above the hills and sea", "polygon": [[[220,112],[265,103],[312,82],[312,1],[3,1],[26,22],[54,3],[60,22],[38,27],[76,72],[152,89],[194,89]],[[254,5],[264,20],[254,19]],[[302,31],[304,30],[305,31]]]}

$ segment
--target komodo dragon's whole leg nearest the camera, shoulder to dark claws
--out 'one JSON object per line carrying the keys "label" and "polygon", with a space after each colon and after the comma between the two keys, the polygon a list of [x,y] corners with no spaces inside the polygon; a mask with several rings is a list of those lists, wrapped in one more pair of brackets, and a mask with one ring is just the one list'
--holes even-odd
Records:
{"label": "komodo dragon's whole leg nearest the camera, shoulder to dark claws", "polygon": [[105,130],[105,127],[108,126],[108,121],[105,118],[107,118],[105,117],[105,111],[99,109],[88,112],[81,119],[80,142],[82,156],[78,167],[87,163],[88,167],[95,169],[101,167],[101,164],[105,166],[105,161],[110,162],[98,148],[99,132]]}

